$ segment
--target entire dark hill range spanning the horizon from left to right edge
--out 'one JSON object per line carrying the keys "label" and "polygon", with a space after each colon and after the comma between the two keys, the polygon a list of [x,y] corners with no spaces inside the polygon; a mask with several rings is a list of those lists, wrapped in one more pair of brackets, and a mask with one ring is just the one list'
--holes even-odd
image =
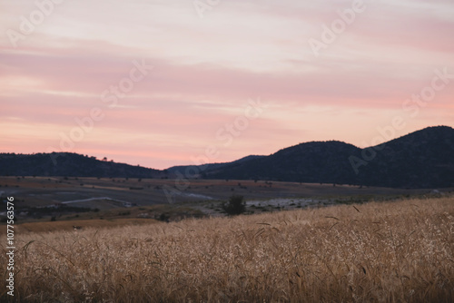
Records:
{"label": "entire dark hill range spanning the horizon from left to right edge", "polygon": [[[345,142],[306,142],[269,156],[228,163],[177,166],[165,171],[76,153],[1,153],[0,175],[167,178],[186,169],[206,179],[299,181],[400,188],[454,187],[454,129],[429,127],[379,146],[360,149]],[[180,176],[181,176],[180,174]],[[191,175],[192,177],[192,175]]]}

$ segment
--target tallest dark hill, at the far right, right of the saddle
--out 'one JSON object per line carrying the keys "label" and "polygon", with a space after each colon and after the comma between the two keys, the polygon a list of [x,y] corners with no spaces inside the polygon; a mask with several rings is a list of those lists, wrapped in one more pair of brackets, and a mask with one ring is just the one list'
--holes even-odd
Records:
{"label": "tallest dark hill, at the far right, right of the saddle", "polygon": [[454,186],[454,129],[429,127],[387,142],[359,176],[379,186]]}

